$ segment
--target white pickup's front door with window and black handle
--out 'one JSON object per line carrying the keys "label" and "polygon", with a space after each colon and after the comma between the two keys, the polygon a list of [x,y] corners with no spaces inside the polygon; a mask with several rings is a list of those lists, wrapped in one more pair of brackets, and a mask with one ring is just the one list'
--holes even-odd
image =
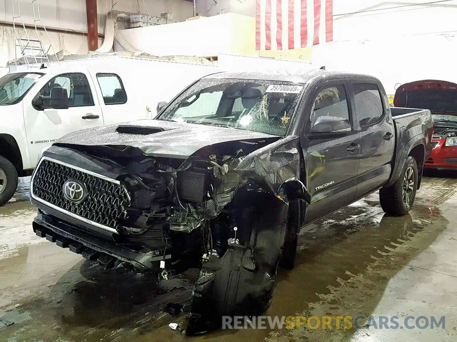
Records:
{"label": "white pickup's front door with window and black handle", "polygon": [[49,100],[43,108],[24,103],[24,121],[32,164],[44,147],[58,138],[86,128],[103,126],[103,115],[94,83],[84,72],[62,73],[50,79],[35,96],[50,96],[51,88],[67,88],[69,109],[52,109]]}

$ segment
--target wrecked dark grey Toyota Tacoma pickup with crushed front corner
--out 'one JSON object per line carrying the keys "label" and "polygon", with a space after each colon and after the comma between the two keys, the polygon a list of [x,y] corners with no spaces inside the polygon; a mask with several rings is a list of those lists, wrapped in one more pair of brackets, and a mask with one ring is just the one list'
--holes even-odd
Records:
{"label": "wrecked dark grey Toyota Tacoma pickup with crushed front corner", "polygon": [[105,268],[201,268],[188,335],[266,311],[304,225],[378,189],[407,214],[430,155],[430,111],[365,75],[216,73],[159,109],[46,150],[33,230]]}

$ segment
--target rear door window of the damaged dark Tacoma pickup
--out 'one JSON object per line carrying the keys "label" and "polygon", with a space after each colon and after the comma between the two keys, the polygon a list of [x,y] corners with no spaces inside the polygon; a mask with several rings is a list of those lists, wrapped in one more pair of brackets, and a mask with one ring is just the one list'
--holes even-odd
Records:
{"label": "rear door window of the damaged dark Tacoma pickup", "polygon": [[359,124],[367,126],[376,124],[384,114],[381,94],[376,84],[354,83],[354,102]]}

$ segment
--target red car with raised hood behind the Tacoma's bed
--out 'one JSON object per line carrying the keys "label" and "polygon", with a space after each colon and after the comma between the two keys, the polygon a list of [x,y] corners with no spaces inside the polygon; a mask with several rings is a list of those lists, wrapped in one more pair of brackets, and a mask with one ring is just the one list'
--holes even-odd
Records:
{"label": "red car with raised hood behind the Tacoma's bed", "polygon": [[457,170],[457,84],[421,80],[397,88],[395,107],[430,109],[434,122],[426,168]]}

